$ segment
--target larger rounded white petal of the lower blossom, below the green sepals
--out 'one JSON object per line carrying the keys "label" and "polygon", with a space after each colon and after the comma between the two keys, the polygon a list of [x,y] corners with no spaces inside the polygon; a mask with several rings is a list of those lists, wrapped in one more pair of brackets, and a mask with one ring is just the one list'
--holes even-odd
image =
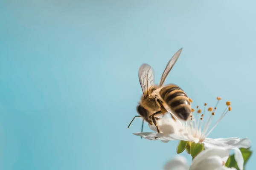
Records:
{"label": "larger rounded white petal of the lower blossom, below the green sepals", "polygon": [[[223,162],[226,162],[229,157],[229,151],[224,148],[211,148],[208,150],[203,150],[195,159],[192,161],[190,170],[205,170],[206,164],[207,170],[215,170],[215,168],[220,168]],[[204,165],[204,166],[202,166]],[[204,168],[204,169],[199,169]],[[210,169],[213,168],[213,169]]]}

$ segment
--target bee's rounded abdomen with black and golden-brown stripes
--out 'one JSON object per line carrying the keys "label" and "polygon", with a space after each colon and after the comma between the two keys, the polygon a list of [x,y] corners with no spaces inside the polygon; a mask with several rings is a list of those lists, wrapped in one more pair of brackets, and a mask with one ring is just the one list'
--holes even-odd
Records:
{"label": "bee's rounded abdomen with black and golden-brown stripes", "polygon": [[180,119],[187,120],[191,112],[189,98],[177,85],[168,85],[159,92],[163,101]]}

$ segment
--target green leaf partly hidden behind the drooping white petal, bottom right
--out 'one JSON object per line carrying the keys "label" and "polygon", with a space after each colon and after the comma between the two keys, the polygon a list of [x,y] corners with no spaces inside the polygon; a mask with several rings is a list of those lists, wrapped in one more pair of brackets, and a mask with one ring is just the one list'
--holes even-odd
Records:
{"label": "green leaf partly hidden behind the drooping white petal, bottom right", "polygon": [[[245,165],[247,163],[247,161],[249,160],[250,156],[252,155],[252,151],[250,150],[250,148],[245,149],[245,148],[240,148],[242,156],[244,158],[244,170],[245,170]],[[226,167],[234,167],[237,170],[239,170],[239,167],[237,166],[236,163],[236,159],[235,159],[235,155],[231,155],[228,159],[227,162],[225,164]]]}

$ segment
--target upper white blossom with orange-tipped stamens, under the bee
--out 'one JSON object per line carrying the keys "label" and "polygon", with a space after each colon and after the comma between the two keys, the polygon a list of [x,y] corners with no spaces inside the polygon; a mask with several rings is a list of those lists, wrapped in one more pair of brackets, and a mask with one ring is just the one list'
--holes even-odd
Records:
{"label": "upper white blossom with orange-tipped stamens, under the bee", "polygon": [[209,112],[205,122],[205,112],[201,114],[201,110],[198,110],[197,113],[191,113],[190,118],[187,122],[180,121],[172,113],[172,116],[169,113],[165,113],[161,119],[157,120],[157,125],[159,127],[160,133],[157,133],[157,129],[154,125],[148,124],[151,130],[154,130],[155,133],[134,133],[134,135],[142,136],[143,138],[149,140],[160,139],[162,142],[169,142],[170,140],[183,140],[195,143],[200,142],[204,144],[206,150],[212,147],[223,147],[228,150],[234,149],[235,159],[238,164],[238,167],[240,170],[243,170],[244,159],[242,157],[241,151],[238,148],[250,147],[251,141],[249,139],[240,139],[237,137],[226,139],[207,138],[209,133],[215,128],[218,122],[220,122],[220,120],[227,114],[228,111],[231,111],[231,107],[229,107],[229,105],[230,102],[227,102],[227,108],[211,129],[209,129],[209,127],[215,115],[216,107],[213,112],[212,108],[208,109]]}

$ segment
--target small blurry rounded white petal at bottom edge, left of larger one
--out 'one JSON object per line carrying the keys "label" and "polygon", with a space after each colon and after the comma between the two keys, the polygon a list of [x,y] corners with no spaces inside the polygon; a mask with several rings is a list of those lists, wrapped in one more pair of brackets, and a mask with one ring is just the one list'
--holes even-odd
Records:
{"label": "small blurry rounded white petal at bottom edge, left of larger one", "polygon": [[170,160],[164,170],[189,170],[189,167],[186,162],[186,158],[183,156],[176,156],[174,159]]}

